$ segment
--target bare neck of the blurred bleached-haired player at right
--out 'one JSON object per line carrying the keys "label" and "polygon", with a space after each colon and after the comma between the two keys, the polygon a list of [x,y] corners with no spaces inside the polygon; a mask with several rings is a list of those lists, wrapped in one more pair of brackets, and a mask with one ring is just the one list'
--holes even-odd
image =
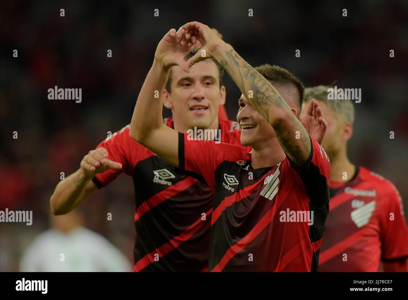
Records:
{"label": "bare neck of the blurred bleached-haired player at right", "polygon": [[[353,178],[356,167],[347,158],[347,150],[344,149],[330,158],[330,180],[348,181]],[[346,172],[346,173],[344,173]],[[347,179],[345,179],[347,178]]]}

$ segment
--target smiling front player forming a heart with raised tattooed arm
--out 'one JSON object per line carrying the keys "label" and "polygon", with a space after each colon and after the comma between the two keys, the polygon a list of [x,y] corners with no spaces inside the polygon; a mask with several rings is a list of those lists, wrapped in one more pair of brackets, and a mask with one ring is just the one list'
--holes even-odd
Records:
{"label": "smiling front player forming a heart with raised tattooed arm", "polygon": [[[184,55],[197,39],[203,48],[186,62]],[[193,70],[206,58],[222,64],[243,93],[237,120],[241,142],[253,148],[251,153],[195,140],[162,123],[162,104],[153,91],[164,87],[172,66]],[[262,69],[267,75],[268,66]],[[135,105],[131,137],[215,193],[210,271],[317,269],[330,163],[299,121],[302,83],[281,68],[270,73],[271,82],[208,26],[190,22],[177,33],[171,29],[158,44]],[[324,126],[321,117],[312,118]]]}

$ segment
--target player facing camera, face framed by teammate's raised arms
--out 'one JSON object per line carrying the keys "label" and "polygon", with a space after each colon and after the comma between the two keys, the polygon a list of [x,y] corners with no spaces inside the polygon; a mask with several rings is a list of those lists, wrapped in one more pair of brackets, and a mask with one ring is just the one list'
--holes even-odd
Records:
{"label": "player facing camera, face framed by teammate's raised arms", "polygon": [[[195,53],[197,49],[188,51],[187,58]],[[157,89],[161,97],[155,98],[173,113],[162,124],[181,132],[220,129],[222,142],[242,147],[238,123],[217,121],[226,96],[223,72],[211,59],[195,64],[189,73],[177,66],[169,69],[160,78],[165,82]],[[311,105],[302,122],[319,139],[319,128],[313,130],[316,109],[317,104]],[[81,168],[57,185],[51,209],[55,214],[71,211],[124,172],[133,177],[135,187],[134,270],[206,271],[213,192],[195,178],[176,174],[173,166],[131,139],[129,129],[127,125],[89,151]]]}

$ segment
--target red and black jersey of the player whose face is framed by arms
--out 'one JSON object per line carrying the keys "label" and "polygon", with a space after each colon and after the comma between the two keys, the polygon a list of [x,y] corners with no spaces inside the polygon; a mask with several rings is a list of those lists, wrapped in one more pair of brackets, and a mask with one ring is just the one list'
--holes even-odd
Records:
{"label": "red and black jersey of the player whose face is framed by arms", "polygon": [[[173,128],[171,118],[164,123]],[[220,121],[221,141],[241,146],[237,122]],[[101,142],[121,170],[97,174],[105,187],[122,172],[135,188],[135,271],[206,271],[214,195],[202,182],[174,167],[129,136],[130,125]],[[204,215],[205,218],[204,218]],[[204,220],[206,219],[206,220]]]}

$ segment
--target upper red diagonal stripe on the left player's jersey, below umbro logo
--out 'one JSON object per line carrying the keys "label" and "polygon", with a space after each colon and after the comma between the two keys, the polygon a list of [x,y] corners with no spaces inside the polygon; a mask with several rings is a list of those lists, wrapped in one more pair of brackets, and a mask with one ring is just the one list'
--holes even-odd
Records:
{"label": "upper red diagonal stripe on the left player's jersey, below umbro logo", "polygon": [[155,207],[156,205],[162,203],[166,199],[173,197],[174,195],[184,191],[188,187],[191,187],[197,179],[192,177],[186,177],[183,180],[180,180],[176,184],[171,185],[167,189],[164,189],[160,193],[155,194],[154,196],[150,197],[146,201],[144,201],[140,206],[137,208],[135,213],[135,222],[139,220],[144,213]]}

